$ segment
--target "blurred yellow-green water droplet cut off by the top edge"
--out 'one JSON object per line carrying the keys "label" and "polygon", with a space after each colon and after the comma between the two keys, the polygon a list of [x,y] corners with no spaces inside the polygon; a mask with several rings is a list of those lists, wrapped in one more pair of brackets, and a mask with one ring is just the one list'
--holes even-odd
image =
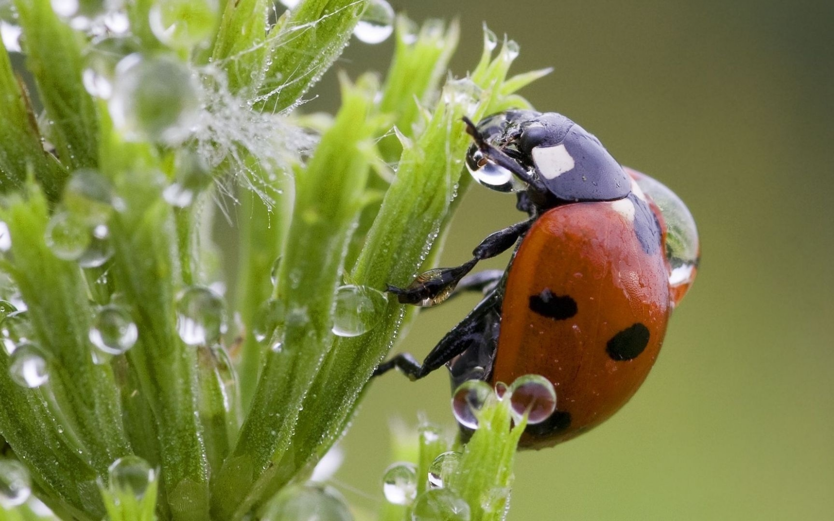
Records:
{"label": "blurred yellow-green water droplet cut off by the top edge", "polygon": [[148,23],[153,36],[175,49],[188,49],[214,34],[217,0],[160,0],[153,3]]}

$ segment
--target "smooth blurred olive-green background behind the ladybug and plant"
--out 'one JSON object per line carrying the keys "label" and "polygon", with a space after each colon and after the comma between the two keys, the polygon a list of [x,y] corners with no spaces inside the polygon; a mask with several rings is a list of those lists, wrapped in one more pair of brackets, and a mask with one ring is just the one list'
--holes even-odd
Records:
{"label": "smooth blurred olive-green background behind the ladybug and plant", "polygon": [[[520,453],[510,519],[834,519],[834,3],[391,3],[460,16],[458,75],[482,22],[520,43],[516,72],[554,67],[522,93],[661,179],[700,228],[699,278],[643,388],[591,433]],[[337,68],[379,70],[391,48],[354,42]],[[335,107],[334,73],[316,93]],[[472,187],[443,263],[519,220],[514,203]],[[475,300],[422,314],[399,349],[422,357]],[[442,371],[374,383],[342,443],[352,503],[382,501],[389,422],[451,432],[449,395]]]}

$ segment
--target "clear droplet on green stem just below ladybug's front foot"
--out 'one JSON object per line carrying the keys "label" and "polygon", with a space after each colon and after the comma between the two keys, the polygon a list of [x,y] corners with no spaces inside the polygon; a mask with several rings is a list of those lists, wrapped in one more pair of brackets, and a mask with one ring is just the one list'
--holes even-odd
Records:
{"label": "clear droplet on green stem just below ladybug's front foot", "polygon": [[342,286],[336,290],[333,333],[358,337],[368,333],[382,319],[388,303],[384,293],[367,286]]}

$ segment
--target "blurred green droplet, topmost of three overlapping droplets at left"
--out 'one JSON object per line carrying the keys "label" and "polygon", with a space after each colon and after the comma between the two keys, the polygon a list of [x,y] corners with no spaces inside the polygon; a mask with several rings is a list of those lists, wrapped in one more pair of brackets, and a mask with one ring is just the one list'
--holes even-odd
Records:
{"label": "blurred green droplet, topmost of three overlapping droplets at left", "polygon": [[95,226],[113,213],[113,187],[98,171],[80,168],[63,189],[62,202],[74,218]]}

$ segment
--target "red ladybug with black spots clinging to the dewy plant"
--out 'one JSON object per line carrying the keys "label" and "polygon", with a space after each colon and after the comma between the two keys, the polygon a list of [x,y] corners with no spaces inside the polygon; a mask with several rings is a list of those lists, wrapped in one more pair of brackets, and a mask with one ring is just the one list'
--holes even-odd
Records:
{"label": "red ladybug with black spots clinging to the dewy plant", "polygon": [[[400,303],[420,306],[455,289],[485,297],[423,363],[403,353],[374,374],[399,368],[418,379],[446,365],[453,388],[540,374],[553,383],[557,408],[527,426],[520,446],[548,447],[610,418],[646,379],[695,278],[695,222],[669,188],[620,166],[565,116],[515,110],[465,122],[470,173],[516,193],[529,218],[485,238],[467,263],[389,286]],[[505,271],[469,274],[515,243]]]}

